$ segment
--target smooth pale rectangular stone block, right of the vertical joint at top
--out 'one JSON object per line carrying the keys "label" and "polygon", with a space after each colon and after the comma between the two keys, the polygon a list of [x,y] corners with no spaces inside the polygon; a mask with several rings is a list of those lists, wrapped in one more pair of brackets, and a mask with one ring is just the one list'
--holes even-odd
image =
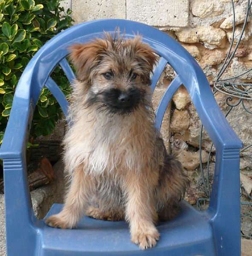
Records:
{"label": "smooth pale rectangular stone block, right of the vertical joint at top", "polygon": [[189,0],[127,0],[126,17],[151,26],[184,27],[188,26],[188,8]]}

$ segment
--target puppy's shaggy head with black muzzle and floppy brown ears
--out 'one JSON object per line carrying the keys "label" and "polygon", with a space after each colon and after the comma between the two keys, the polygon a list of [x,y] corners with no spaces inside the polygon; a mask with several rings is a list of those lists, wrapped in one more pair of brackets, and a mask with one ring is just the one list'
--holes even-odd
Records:
{"label": "puppy's shaggy head with black muzzle and floppy brown ears", "polygon": [[[117,35],[117,38],[116,38]],[[149,104],[150,75],[158,59],[156,52],[142,42],[105,33],[86,44],[70,47],[80,81],[78,92],[87,93],[86,104],[107,113],[129,114]]]}

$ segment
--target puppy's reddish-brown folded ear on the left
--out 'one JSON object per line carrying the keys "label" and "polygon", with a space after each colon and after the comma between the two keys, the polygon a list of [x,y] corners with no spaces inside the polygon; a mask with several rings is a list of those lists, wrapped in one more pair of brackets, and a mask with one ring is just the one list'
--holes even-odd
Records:
{"label": "puppy's reddish-brown folded ear on the left", "polygon": [[92,78],[92,70],[101,60],[102,52],[107,48],[104,40],[97,39],[85,44],[75,44],[69,47],[70,61],[75,66],[79,80],[88,80]]}

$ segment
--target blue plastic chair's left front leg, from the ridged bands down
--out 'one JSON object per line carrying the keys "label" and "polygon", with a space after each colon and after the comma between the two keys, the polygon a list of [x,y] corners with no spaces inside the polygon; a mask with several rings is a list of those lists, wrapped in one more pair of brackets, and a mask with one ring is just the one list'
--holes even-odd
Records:
{"label": "blue plastic chair's left front leg, from the ridged bands down", "polygon": [[37,229],[22,160],[4,160],[6,247],[8,255],[35,255]]}

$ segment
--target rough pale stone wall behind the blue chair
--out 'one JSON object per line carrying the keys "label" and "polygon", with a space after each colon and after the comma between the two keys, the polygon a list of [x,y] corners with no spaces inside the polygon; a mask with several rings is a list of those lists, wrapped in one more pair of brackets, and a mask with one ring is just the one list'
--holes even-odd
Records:
{"label": "rough pale stone wall behind the blue chair", "polygon": [[[236,14],[235,47],[245,20],[247,0],[234,0],[234,3]],[[72,9],[75,23],[100,18],[124,18],[144,22],[161,29],[179,41],[193,55],[206,74],[210,85],[214,84],[232,41],[231,0],[72,0],[64,1],[62,4],[64,7]],[[252,67],[251,35],[252,23],[250,23],[249,17],[235,58],[223,73],[222,78],[239,75]],[[162,93],[174,77],[174,71],[167,66],[159,80],[156,95]],[[239,79],[243,82],[250,82],[251,80],[251,73],[247,73]],[[158,98],[159,96],[155,97]],[[225,94],[218,92],[215,97],[223,113],[227,113],[229,106],[225,103]],[[233,104],[234,102],[237,102],[237,99],[233,99],[229,103]],[[251,101],[245,101],[245,105],[250,111],[252,110]],[[228,120],[243,140],[244,145],[249,145],[252,134],[251,114],[244,111],[240,104],[238,108],[231,111]],[[162,126],[166,146],[171,151],[177,151],[178,158],[191,177],[192,183],[188,201],[193,204],[198,197],[204,196],[203,180],[199,169],[201,123],[184,87],[175,93]],[[213,153],[209,155],[211,140],[204,130],[202,148],[202,162],[206,163],[210,159],[211,183],[211,175],[214,171],[214,147]],[[249,177],[252,176],[251,149],[243,151],[241,157],[242,172],[249,180]],[[206,164],[203,164],[203,171],[206,172]]]}

